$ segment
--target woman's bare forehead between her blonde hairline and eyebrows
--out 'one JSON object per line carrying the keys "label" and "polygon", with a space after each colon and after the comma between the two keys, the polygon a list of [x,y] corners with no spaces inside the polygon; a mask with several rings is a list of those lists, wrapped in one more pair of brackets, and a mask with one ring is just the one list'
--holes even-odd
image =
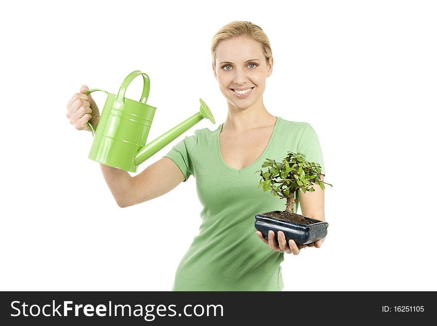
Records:
{"label": "woman's bare forehead between her blonde hairline and eyebrows", "polygon": [[244,62],[247,59],[262,59],[263,57],[261,44],[247,36],[238,36],[221,41],[216,48],[216,60],[218,62]]}

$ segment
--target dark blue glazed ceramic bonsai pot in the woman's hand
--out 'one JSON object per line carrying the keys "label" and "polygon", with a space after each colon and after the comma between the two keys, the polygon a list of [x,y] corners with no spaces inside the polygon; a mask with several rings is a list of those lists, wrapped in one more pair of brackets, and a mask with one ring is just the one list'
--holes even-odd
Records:
{"label": "dark blue glazed ceramic bonsai pot in the woman's hand", "polygon": [[264,239],[269,240],[269,230],[272,230],[275,232],[275,240],[279,245],[278,231],[282,231],[285,234],[287,243],[292,239],[297,245],[306,245],[323,239],[328,233],[328,223],[313,218],[305,217],[306,220],[313,222],[313,224],[305,225],[266,215],[280,212],[274,210],[255,215],[255,229],[263,234]]}

